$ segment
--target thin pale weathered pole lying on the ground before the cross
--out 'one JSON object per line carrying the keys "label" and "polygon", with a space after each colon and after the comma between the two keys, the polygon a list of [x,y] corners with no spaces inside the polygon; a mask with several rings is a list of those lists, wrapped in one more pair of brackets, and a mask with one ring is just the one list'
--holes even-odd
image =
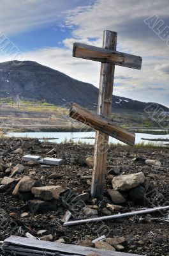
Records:
{"label": "thin pale weathered pole lying on the ground before the cross", "polygon": [[99,220],[113,220],[113,219],[119,219],[119,218],[125,218],[125,217],[130,217],[130,216],[135,216],[135,215],[140,215],[140,214],[146,214],[149,212],[156,212],[156,211],[161,211],[161,210],[167,210],[169,209],[168,206],[160,206],[160,207],[154,207],[154,208],[149,208],[141,211],[132,211],[132,212],[126,212],[122,214],[114,214],[110,216],[103,216],[103,217],[97,217],[97,218],[90,218],[90,219],[85,219],[85,220],[75,220],[75,221],[68,221],[63,224],[64,227],[66,226],[71,226],[71,225],[80,225],[84,223],[91,223],[94,221],[99,221]]}

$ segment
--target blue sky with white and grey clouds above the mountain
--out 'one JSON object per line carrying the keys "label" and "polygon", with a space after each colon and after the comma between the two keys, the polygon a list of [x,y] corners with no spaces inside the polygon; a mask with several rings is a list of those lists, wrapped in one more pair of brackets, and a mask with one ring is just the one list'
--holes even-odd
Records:
{"label": "blue sky with white and grey clouds above the mountain", "polygon": [[[142,70],[115,66],[114,94],[169,107],[168,0],[0,0],[0,62],[22,58],[99,87],[100,63],[72,57],[74,42],[142,56]],[[2,38],[20,54],[5,51]]]}

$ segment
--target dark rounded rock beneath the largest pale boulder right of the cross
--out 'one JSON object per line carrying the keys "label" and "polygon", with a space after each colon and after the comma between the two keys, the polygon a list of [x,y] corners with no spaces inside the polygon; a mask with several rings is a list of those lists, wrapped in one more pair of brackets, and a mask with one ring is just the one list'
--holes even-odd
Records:
{"label": "dark rounded rock beneath the largest pale boulder right of the cross", "polygon": [[137,205],[145,205],[145,195],[146,191],[142,186],[133,188],[129,191],[129,199]]}

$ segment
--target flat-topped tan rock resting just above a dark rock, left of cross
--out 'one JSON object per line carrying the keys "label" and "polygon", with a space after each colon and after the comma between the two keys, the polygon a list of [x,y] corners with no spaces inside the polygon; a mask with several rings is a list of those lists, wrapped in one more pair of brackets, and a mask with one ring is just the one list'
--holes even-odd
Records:
{"label": "flat-topped tan rock resting just above a dark rock, left of cross", "polygon": [[32,193],[35,197],[43,200],[59,199],[60,193],[64,192],[62,186],[43,186],[38,188],[32,188]]}

